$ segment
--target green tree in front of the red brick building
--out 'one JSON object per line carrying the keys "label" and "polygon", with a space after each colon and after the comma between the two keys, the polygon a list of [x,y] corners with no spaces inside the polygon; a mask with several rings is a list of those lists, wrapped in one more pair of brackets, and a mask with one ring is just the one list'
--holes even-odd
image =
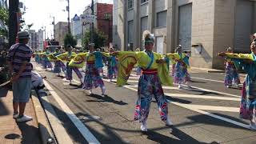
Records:
{"label": "green tree in front of the red brick building", "polygon": [[[99,48],[105,45],[107,42],[107,36],[99,30],[94,30],[94,44],[95,48]],[[90,31],[86,31],[84,38],[82,40],[83,46],[88,46],[90,43]]]}

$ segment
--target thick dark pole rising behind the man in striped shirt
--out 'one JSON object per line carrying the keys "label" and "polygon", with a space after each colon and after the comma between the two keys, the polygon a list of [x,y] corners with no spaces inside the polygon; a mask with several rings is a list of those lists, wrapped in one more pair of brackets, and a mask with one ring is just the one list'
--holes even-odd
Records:
{"label": "thick dark pole rising behind the man in striped shirt", "polygon": [[18,33],[18,0],[9,0],[9,46],[14,45]]}

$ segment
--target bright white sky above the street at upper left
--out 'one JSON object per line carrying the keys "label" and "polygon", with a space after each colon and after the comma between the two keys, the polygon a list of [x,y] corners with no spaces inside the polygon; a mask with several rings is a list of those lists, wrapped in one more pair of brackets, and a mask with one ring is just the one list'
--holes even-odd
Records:
{"label": "bright white sky above the street at upper left", "polygon": [[[46,35],[49,38],[54,33],[54,26],[51,25],[54,18],[55,24],[57,22],[67,22],[67,11],[63,11],[66,10],[66,0],[20,0],[20,2],[23,2],[27,8],[26,14],[22,16],[22,18],[25,18],[26,24],[33,23],[31,30],[36,31],[46,26]],[[90,2],[91,0],[70,0],[70,20],[74,17],[74,14],[82,14],[86,6],[90,5]],[[113,3],[113,0],[98,0],[98,2]]]}

